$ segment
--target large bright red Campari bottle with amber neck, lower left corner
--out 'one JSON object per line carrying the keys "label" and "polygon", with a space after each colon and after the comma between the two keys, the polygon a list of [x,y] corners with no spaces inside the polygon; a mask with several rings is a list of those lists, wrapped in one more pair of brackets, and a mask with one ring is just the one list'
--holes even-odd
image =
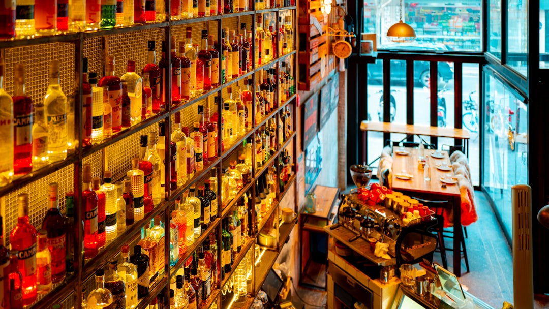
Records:
{"label": "large bright red Campari bottle with amber neck, lower left corner", "polygon": [[36,301],[36,229],[29,223],[29,194],[17,196],[18,218],[9,234],[11,250],[18,250],[18,267],[23,274],[23,305]]}

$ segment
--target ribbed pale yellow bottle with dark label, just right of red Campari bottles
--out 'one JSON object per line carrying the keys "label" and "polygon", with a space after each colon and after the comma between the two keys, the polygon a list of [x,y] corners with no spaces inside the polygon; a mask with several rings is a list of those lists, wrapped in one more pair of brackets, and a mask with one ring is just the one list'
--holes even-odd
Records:
{"label": "ribbed pale yellow bottle with dark label, just right of red Campari bottles", "polygon": [[[101,186],[100,189],[96,190],[96,193],[98,193],[98,211],[99,211],[99,225],[102,220],[101,218],[105,216],[104,221],[104,229],[105,229],[105,237],[107,240],[113,240],[117,236],[117,218],[118,218],[118,210],[116,209],[116,188],[114,187],[114,184],[111,183],[112,173],[110,171],[105,171],[103,173],[103,186]],[[97,182],[99,182],[99,178],[97,178]],[[101,209],[101,205],[103,202],[101,201],[103,199],[104,195],[104,215],[102,215],[103,210]],[[102,229],[102,228],[100,228]],[[99,238],[101,239],[102,236],[99,235]],[[102,240],[99,241],[101,243]]]}

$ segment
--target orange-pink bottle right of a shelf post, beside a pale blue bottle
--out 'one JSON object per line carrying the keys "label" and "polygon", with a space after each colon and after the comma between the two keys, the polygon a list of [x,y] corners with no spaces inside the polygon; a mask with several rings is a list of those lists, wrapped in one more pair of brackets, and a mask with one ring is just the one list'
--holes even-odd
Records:
{"label": "orange-pink bottle right of a shelf post, beside a pale blue bottle", "polygon": [[170,266],[176,265],[180,254],[187,251],[185,232],[187,230],[187,214],[181,207],[181,199],[176,199],[175,210],[170,220]]}

